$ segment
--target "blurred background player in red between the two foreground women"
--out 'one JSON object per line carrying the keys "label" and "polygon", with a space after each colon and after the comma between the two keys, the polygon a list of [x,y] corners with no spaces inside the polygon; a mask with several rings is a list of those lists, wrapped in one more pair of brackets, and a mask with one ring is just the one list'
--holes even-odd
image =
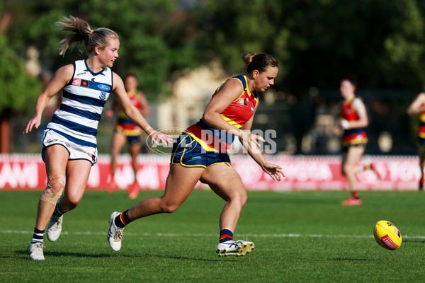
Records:
{"label": "blurred background player in red between the two foreground women", "polygon": [[[128,76],[125,78],[125,90],[127,91],[128,97],[135,108],[142,113],[143,117],[150,115],[149,102],[145,95],[141,91],[137,91],[139,82],[133,71],[130,71]],[[132,122],[123,109],[120,108],[118,103],[113,103],[110,110],[106,111],[106,117],[111,118],[115,109],[118,110],[118,122],[115,125],[115,133],[112,138],[112,149],[111,149],[111,181],[108,184],[108,190],[113,190],[118,187],[115,183],[115,171],[117,169],[117,156],[120,154],[121,149],[128,142],[128,151],[131,156],[132,169],[135,174],[134,182],[128,187],[128,197],[135,199],[139,195],[139,184],[137,183],[137,156],[142,148],[142,134],[143,130],[139,126]]]}

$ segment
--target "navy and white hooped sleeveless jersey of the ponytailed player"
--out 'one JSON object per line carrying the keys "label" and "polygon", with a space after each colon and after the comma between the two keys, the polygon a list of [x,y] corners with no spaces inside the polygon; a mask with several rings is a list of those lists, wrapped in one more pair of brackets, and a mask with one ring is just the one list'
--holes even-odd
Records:
{"label": "navy and white hooped sleeveless jersey of the ponytailed player", "polygon": [[112,71],[94,73],[86,60],[74,62],[74,74],[63,88],[60,108],[47,129],[81,146],[96,147],[97,128],[106,100],[112,91]]}

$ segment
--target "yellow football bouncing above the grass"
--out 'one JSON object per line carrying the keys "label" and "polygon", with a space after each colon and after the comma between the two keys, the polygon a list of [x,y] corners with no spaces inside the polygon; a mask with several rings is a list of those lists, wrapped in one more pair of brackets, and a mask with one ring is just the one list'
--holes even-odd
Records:
{"label": "yellow football bouncing above the grass", "polygon": [[395,250],[402,246],[402,233],[390,221],[380,220],[373,227],[373,236],[376,243],[388,250]]}

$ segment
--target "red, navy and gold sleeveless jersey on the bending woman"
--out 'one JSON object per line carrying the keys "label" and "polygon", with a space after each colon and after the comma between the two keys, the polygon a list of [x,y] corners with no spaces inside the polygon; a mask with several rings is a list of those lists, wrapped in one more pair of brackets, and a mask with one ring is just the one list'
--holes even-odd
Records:
{"label": "red, navy and gold sleeveless jersey on the bending woman", "polygon": [[[240,129],[254,115],[258,97],[256,91],[252,93],[249,91],[246,76],[234,76],[230,79],[239,81],[244,91],[220,115],[230,125]],[[223,83],[212,96],[215,96],[220,91],[222,85]],[[193,139],[196,139],[206,151],[228,152],[234,141],[234,135],[228,134],[223,130],[215,129],[215,127],[203,122],[202,118],[195,125],[188,127],[186,133],[190,134]]]}

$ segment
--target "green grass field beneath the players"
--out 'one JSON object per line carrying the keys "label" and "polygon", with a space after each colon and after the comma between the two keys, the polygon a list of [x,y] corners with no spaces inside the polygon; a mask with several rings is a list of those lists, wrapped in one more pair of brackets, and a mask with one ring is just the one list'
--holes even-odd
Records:
{"label": "green grass field beneath the players", "polygon": [[[141,192],[140,200],[162,192]],[[136,202],[126,192],[88,191],[65,214],[62,236],[45,237],[45,260],[28,260],[40,192],[0,192],[1,282],[424,282],[425,195],[363,192],[361,207],[341,207],[347,192],[249,192],[234,238],[254,241],[246,257],[218,258],[224,202],[194,191],[174,214],[139,219],[114,252],[108,215]],[[373,238],[378,220],[402,232],[397,250]]]}

